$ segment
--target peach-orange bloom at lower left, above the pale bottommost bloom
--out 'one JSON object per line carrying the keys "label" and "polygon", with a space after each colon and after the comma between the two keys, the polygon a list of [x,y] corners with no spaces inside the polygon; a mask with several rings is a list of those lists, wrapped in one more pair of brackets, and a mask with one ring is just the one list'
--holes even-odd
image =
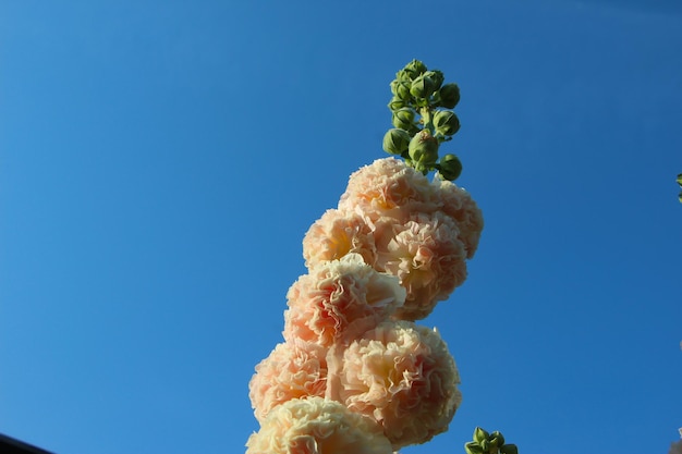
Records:
{"label": "peach-orange bloom at lower left, above the pale bottommost bloom", "polygon": [[327,349],[295,341],[278,344],[256,366],[248,383],[256,419],[263,421],[276,406],[293,398],[324,396],[327,385]]}

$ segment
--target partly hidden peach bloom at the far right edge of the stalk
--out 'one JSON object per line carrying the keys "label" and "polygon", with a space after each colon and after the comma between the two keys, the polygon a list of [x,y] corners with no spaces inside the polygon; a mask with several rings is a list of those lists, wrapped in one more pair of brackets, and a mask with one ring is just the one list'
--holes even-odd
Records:
{"label": "partly hidden peach bloom at the far right edge of the stalk", "polygon": [[464,243],[466,258],[474,257],[483,231],[483,213],[472,196],[449,181],[435,181],[439,189],[437,197],[442,201],[442,211],[454,219],[460,230],[460,240]]}

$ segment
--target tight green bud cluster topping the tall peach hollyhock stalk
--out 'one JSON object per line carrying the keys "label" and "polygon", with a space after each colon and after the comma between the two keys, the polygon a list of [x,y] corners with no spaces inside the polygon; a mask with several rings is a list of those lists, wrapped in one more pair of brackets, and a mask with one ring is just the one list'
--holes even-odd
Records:
{"label": "tight green bud cluster topping the tall peach hollyhock stalk", "polygon": [[456,180],[462,172],[460,159],[448,154],[439,160],[438,148],[460,130],[452,111],[460,101],[458,85],[444,84],[442,72],[413,60],[395,74],[391,93],[388,107],[394,127],[383,136],[383,150],[423,174],[435,170],[442,180]]}

